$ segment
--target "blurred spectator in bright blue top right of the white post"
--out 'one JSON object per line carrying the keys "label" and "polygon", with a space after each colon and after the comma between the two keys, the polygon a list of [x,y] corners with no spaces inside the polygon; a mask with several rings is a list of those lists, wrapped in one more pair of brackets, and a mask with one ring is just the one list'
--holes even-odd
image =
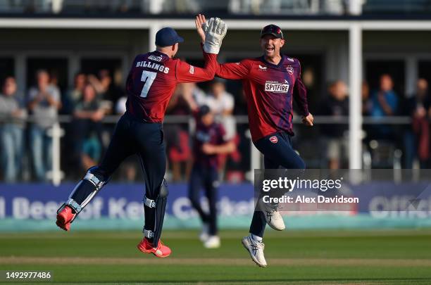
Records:
{"label": "blurred spectator in bright blue top right of the white post", "polygon": [[[374,91],[370,98],[370,115],[374,118],[396,115],[399,98],[395,94],[394,83],[390,75],[380,77],[380,89]],[[394,132],[389,125],[373,125],[370,127],[370,139],[394,139]]]}

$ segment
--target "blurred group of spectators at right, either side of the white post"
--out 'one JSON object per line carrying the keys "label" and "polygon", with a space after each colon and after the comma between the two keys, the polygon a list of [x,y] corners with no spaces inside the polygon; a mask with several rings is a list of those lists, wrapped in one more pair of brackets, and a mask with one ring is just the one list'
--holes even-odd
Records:
{"label": "blurred group of spectators at right, either side of the white post", "polygon": [[[328,87],[328,94],[319,103],[318,115],[337,118],[349,115],[349,96],[346,84],[333,82]],[[430,120],[431,96],[427,80],[420,78],[415,94],[401,96],[394,91],[394,82],[388,74],[380,76],[379,86],[370,90],[367,82],[362,85],[362,113],[371,118],[370,124],[363,125],[363,142],[366,151],[370,151],[374,165],[392,167],[396,150],[402,153],[404,168],[430,168]],[[407,125],[385,121],[394,116],[409,118]],[[320,125],[325,148],[327,167],[337,169],[348,167],[349,144],[348,122],[344,124]],[[387,152],[387,153],[384,153]],[[382,158],[387,165],[379,164]],[[372,166],[374,166],[372,165]]]}

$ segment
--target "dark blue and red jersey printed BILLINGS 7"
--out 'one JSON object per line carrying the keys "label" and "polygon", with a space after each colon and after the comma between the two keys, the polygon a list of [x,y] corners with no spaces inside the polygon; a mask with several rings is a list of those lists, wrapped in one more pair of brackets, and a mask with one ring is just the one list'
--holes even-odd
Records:
{"label": "dark blue and red jersey printed BILLINGS 7", "polygon": [[205,67],[196,68],[160,51],[139,54],[127,77],[127,112],[145,122],[162,122],[177,83],[213,79],[217,55],[204,52],[204,59]]}

